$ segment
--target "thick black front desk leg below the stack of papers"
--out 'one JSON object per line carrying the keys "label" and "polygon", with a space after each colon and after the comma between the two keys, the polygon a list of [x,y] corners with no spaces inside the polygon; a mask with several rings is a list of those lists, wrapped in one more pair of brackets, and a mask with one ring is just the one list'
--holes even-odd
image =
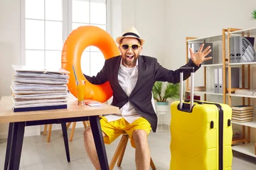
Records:
{"label": "thick black front desk leg below the stack of papers", "polygon": [[9,170],[18,170],[21,161],[25,123],[14,123],[11,138],[11,155],[9,158]]}

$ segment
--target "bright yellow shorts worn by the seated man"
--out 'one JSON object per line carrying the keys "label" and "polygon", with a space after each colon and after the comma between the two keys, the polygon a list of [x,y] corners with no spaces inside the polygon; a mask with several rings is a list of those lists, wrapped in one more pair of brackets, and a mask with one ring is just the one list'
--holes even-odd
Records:
{"label": "bright yellow shorts worn by the seated man", "polygon": [[105,144],[110,144],[116,140],[119,135],[122,135],[126,132],[127,135],[129,135],[131,145],[134,148],[136,146],[132,137],[132,132],[134,130],[145,130],[147,135],[149,135],[149,132],[151,131],[151,125],[145,118],[138,118],[133,123],[128,123],[124,118],[108,122],[107,119],[102,116],[100,119],[100,125],[102,131],[106,134],[104,137]]}

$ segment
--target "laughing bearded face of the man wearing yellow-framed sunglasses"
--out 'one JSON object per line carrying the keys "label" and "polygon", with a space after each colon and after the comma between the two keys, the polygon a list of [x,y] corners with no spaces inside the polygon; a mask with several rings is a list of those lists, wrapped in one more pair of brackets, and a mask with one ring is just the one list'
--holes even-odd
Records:
{"label": "laughing bearded face of the man wearing yellow-framed sunglasses", "polygon": [[125,67],[134,67],[136,65],[142,46],[137,38],[123,38],[119,51],[122,54],[122,64]]}

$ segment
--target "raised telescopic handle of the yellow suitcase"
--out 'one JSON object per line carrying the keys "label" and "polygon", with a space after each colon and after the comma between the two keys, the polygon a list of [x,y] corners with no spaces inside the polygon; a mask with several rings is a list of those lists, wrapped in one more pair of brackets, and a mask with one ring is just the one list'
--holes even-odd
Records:
{"label": "raised telescopic handle of the yellow suitcase", "polygon": [[180,109],[182,110],[183,106],[183,72],[190,72],[191,73],[191,104],[190,104],[190,111],[193,107],[193,86],[194,86],[194,73],[195,67],[181,67],[180,68]]}

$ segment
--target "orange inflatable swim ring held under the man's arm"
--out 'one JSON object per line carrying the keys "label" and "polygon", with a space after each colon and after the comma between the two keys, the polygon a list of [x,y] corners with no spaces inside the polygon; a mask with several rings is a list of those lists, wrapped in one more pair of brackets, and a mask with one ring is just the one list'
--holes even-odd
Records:
{"label": "orange inflatable swim ring held under the man's arm", "polygon": [[98,47],[103,53],[105,60],[119,55],[119,50],[113,38],[105,30],[96,26],[81,26],[68,36],[63,45],[61,56],[61,67],[70,72],[70,79],[68,82],[68,89],[75,97],[75,73],[78,80],[85,80],[85,99],[92,99],[94,101],[105,102],[112,96],[112,89],[110,83],[95,85],[91,84],[82,74],[81,69],[81,55],[88,46]]}

